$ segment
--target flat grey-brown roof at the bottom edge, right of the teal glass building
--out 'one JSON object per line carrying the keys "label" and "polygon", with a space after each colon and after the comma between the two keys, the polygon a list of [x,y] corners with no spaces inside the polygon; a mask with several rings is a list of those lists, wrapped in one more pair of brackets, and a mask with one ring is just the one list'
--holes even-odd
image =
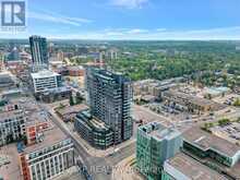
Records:
{"label": "flat grey-brown roof at the bottom edge, right of the teal glass building", "polygon": [[175,157],[166,161],[177,170],[194,180],[227,180],[226,177],[219,175],[217,171],[209,169],[207,166],[194,160],[183,153],[177,154]]}

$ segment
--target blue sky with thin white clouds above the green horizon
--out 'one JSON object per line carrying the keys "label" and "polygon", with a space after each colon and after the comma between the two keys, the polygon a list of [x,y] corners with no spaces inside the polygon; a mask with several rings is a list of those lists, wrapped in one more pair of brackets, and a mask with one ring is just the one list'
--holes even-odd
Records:
{"label": "blue sky with thin white clouds above the green horizon", "polygon": [[239,8],[240,0],[28,0],[26,31],[0,38],[240,39]]}

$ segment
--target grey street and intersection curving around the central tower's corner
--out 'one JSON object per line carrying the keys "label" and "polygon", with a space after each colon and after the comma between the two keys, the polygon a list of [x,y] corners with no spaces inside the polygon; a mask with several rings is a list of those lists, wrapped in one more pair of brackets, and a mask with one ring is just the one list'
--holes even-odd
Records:
{"label": "grey street and intersection curving around the central tower's corner", "polygon": [[51,115],[52,122],[59,127],[63,133],[72,139],[75,145],[75,149],[81,156],[84,166],[87,168],[88,173],[92,175],[95,180],[111,180],[111,168],[119,161],[133,155],[135,152],[135,143],[133,142],[111,156],[92,156],[85,151],[83,145],[77,140],[75,140],[75,136],[72,135],[72,132],[67,128],[67,125],[61,123],[61,119],[53,112],[51,108],[45,107],[45,105],[41,107]]}

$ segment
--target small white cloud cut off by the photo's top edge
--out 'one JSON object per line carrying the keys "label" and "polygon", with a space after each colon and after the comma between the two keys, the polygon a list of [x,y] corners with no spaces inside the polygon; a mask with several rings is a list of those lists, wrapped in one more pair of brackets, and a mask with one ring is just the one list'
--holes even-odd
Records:
{"label": "small white cloud cut off by the photo's top edge", "polygon": [[127,9],[141,9],[148,0],[111,0],[111,4]]}

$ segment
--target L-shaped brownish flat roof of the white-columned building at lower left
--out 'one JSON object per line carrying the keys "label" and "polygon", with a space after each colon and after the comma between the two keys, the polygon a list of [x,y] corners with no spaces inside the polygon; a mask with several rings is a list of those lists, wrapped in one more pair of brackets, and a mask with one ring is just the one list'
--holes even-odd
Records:
{"label": "L-shaped brownish flat roof of the white-columned building at lower left", "polygon": [[38,149],[51,146],[58,142],[61,142],[68,136],[56,125],[52,124],[50,129],[47,129],[46,131],[41,132],[43,133],[43,142],[36,143],[34,145],[29,145],[26,148],[23,149],[25,154],[36,152]]}

